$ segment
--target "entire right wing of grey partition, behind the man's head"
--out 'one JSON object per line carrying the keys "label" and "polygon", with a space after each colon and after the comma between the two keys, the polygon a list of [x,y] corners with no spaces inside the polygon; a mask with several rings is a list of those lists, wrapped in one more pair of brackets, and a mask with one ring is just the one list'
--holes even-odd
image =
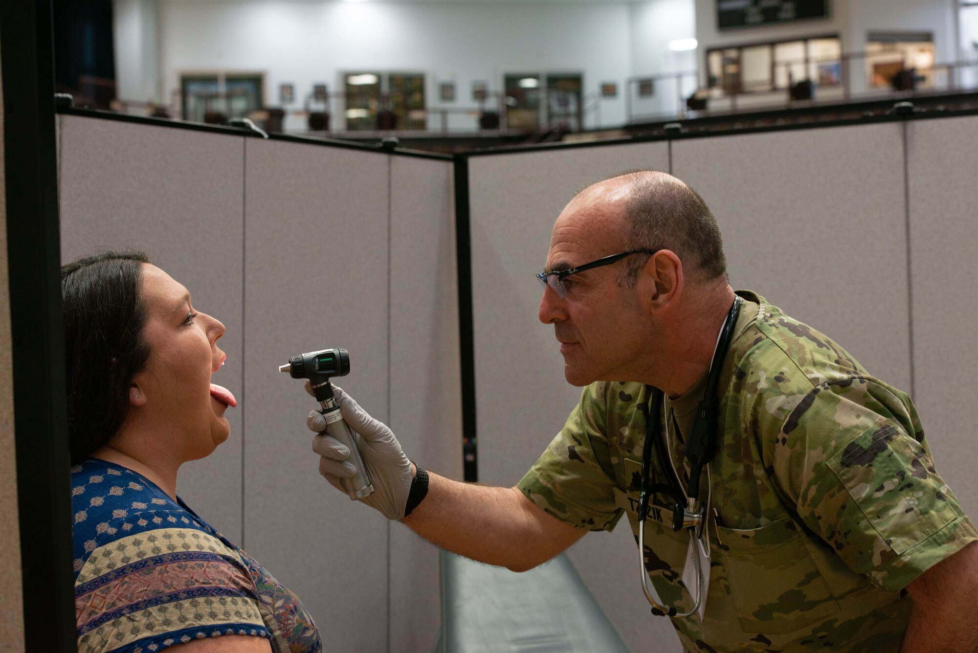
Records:
{"label": "entire right wing of grey partition, behind the man's head", "polygon": [[[970,346],[978,276],[968,266],[978,238],[976,137],[978,117],[968,117],[472,156],[479,480],[518,481],[578,396],[563,380],[553,328],[537,321],[531,277],[556,215],[578,188],[641,167],[670,170],[704,196],[734,287],[760,292],[911,392],[938,468],[978,512],[967,418],[978,365]],[[679,650],[667,622],[648,615],[636,555],[627,526],[570,549],[634,650]]]}

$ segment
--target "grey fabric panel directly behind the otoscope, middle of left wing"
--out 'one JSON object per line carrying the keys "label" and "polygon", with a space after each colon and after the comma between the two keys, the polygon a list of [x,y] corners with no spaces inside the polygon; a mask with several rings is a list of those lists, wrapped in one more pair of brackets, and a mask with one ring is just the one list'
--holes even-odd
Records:
{"label": "grey fabric panel directly behind the otoscope, middle of left wing", "polygon": [[278,368],[347,349],[337,384],[387,419],[387,157],[249,139],[245,161],[244,547],[326,650],[386,650],[387,522],[319,475],[305,425],[319,405]]}

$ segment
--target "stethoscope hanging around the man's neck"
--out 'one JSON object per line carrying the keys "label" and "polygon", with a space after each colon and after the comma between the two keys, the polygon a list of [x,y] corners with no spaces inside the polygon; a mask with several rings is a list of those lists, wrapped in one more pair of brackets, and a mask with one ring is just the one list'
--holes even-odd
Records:
{"label": "stethoscope hanging around the man's neck", "polygon": [[[710,362],[709,376],[706,381],[706,389],[703,398],[696,406],[696,414],[692,418],[692,426],[686,437],[686,457],[689,459],[689,491],[683,490],[680,483],[679,474],[673,466],[672,456],[666,449],[665,440],[662,438],[662,428],[659,424],[660,411],[663,405],[664,394],[658,388],[651,389],[651,401],[649,403],[648,420],[645,422],[645,445],[642,451],[642,487],[639,494],[639,558],[642,567],[642,591],[645,598],[652,605],[652,614],[668,617],[689,617],[697,610],[705,600],[706,579],[710,570],[703,569],[703,558],[709,557],[709,542],[706,539],[707,510],[709,509],[709,490],[707,490],[706,502],[699,501],[700,478],[703,468],[706,467],[713,455],[716,453],[717,443],[717,413],[718,399],[717,387],[720,384],[720,370],[723,368],[724,359],[730,350],[733,340],[733,327],[740,314],[740,304],[743,300],[733,297],[733,306],[727,313],[723,326],[720,327],[720,334],[717,336],[717,345],[713,350],[713,360]],[[651,445],[651,446],[649,446]],[[666,477],[669,483],[656,483],[649,485],[648,478],[651,473],[652,448],[661,460],[663,469],[666,470]],[[672,472],[671,474],[669,472]],[[707,476],[709,469],[707,468]],[[709,484],[707,484],[709,485]],[[655,600],[651,590],[648,588],[648,572],[645,569],[645,517],[648,516],[648,501],[655,493],[664,494],[670,497],[673,504],[673,523],[672,528],[675,532],[689,529],[689,541],[694,549],[693,564],[695,566],[696,583],[698,590],[692,608],[687,612],[679,612],[675,606],[661,605]]]}

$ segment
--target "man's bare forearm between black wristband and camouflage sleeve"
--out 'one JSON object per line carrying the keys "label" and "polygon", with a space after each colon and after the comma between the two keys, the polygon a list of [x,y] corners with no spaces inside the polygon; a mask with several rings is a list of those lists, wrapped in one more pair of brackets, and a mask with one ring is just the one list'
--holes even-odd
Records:
{"label": "man's bare forearm between black wristband and camouflage sleeve", "polygon": [[583,535],[544,513],[515,488],[428,474],[427,496],[402,521],[431,544],[479,562],[525,571]]}

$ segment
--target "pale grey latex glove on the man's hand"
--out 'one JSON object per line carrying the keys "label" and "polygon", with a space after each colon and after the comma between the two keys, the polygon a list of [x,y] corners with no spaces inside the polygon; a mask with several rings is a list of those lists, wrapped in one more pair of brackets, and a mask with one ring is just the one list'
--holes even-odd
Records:
{"label": "pale grey latex glove on the man's hand", "polygon": [[[309,381],[306,392],[315,397]],[[359,500],[379,510],[387,519],[401,519],[408,503],[414,471],[404,455],[397,438],[387,426],[367,414],[342,388],[333,384],[333,394],[339,400],[339,412],[353,431],[360,435],[360,457],[374,484],[374,492]],[[306,425],[318,435],[312,440],[312,450],[319,454],[319,473],[330,484],[346,494],[341,478],[356,474],[356,467],[347,462],[350,450],[335,438],[326,435],[326,418],[312,411]]]}

